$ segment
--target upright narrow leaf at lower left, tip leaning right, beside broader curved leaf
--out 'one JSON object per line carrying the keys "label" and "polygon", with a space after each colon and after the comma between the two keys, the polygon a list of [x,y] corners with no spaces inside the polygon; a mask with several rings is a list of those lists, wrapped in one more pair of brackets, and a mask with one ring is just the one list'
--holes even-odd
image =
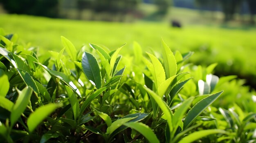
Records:
{"label": "upright narrow leaf at lower left, tip leaning right, beside broader curved leaf", "polygon": [[18,99],[14,104],[12,111],[11,111],[11,126],[13,126],[16,121],[20,118],[20,115],[26,109],[27,104],[30,101],[30,97],[32,95],[32,88],[25,87],[22,91],[19,92]]}

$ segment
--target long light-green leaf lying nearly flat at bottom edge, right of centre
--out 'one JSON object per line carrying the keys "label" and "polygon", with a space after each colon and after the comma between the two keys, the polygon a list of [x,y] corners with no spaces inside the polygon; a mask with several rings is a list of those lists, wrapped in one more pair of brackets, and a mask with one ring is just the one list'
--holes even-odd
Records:
{"label": "long light-green leaf lying nearly flat at bottom edge, right of centre", "polygon": [[197,132],[193,132],[192,134],[189,134],[188,136],[180,140],[178,143],[192,143],[193,141],[201,139],[202,137],[208,136],[210,134],[227,134],[227,132],[224,130],[218,130],[218,129],[200,130]]}

